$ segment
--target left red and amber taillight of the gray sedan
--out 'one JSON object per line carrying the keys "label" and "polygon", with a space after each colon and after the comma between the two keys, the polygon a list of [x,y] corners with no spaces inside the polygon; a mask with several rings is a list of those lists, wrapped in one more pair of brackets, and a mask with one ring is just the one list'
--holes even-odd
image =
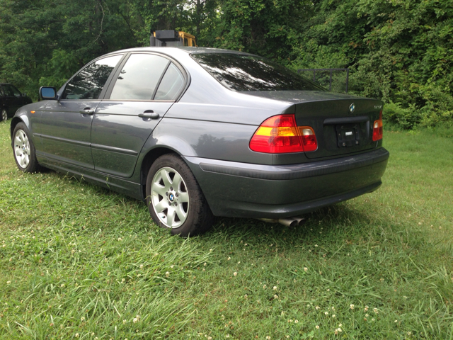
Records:
{"label": "left red and amber taillight of the gray sedan", "polygon": [[314,151],[317,147],[314,130],[309,126],[298,127],[294,115],[275,115],[268,118],[250,141],[253,151],[269,154]]}

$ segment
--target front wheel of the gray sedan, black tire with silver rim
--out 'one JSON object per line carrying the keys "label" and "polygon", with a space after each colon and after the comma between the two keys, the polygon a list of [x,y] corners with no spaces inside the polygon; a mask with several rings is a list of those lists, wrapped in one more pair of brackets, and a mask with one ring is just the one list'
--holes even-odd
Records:
{"label": "front wheel of the gray sedan, black tire with silver rim", "polygon": [[[26,140],[24,142],[24,138],[22,140],[17,140],[16,137],[18,135],[23,136],[25,135]],[[27,149],[27,142],[28,142],[28,149]],[[13,147],[13,157],[16,161],[17,167],[24,172],[37,172],[40,171],[41,167],[36,159],[36,151],[35,145],[33,145],[32,140],[30,139],[30,132],[28,131],[27,127],[24,123],[18,123],[16,128],[14,128],[13,135],[11,138],[11,147]],[[23,157],[19,157],[18,154],[21,152],[25,155],[25,160],[22,162],[21,160]],[[28,160],[27,157],[28,156]]]}

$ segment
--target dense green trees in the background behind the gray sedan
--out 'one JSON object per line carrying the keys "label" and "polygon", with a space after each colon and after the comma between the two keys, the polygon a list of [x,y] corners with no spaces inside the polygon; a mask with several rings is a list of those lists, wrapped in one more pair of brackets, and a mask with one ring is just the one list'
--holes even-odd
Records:
{"label": "dense green trees in the background behind the gray sedan", "polygon": [[403,128],[453,120],[453,0],[0,0],[0,81],[34,99],[151,30],[291,69],[350,69],[350,93],[382,98]]}

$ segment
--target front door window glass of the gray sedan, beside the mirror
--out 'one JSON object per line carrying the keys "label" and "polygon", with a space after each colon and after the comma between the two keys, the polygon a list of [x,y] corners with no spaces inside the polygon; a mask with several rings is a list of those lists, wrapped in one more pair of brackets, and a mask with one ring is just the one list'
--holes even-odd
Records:
{"label": "front door window glass of the gray sedan, beside the mirror", "polygon": [[98,99],[105,82],[121,58],[122,55],[115,55],[89,64],[69,81],[62,99]]}

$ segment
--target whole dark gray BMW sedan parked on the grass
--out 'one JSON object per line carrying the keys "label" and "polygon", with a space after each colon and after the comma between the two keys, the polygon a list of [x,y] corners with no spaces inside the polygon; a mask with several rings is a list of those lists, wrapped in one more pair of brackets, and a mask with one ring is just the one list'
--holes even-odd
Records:
{"label": "whole dark gray BMW sedan parked on the grass", "polygon": [[287,224],[381,186],[382,101],[332,94],[270,60],[142,47],[90,62],[11,122],[19,169],[83,176],[195,234],[213,216]]}

